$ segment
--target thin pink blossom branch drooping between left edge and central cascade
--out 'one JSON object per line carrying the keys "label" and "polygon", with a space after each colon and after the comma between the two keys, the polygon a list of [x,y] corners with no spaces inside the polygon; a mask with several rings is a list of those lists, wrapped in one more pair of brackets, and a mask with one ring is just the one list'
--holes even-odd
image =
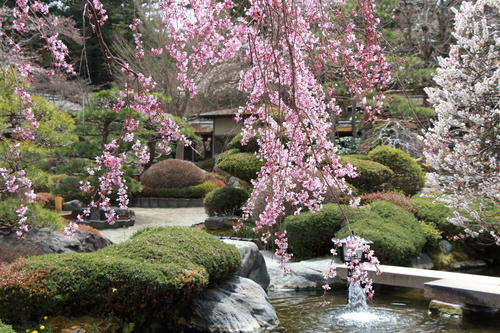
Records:
{"label": "thin pink blossom branch drooping between left edge and central cascade", "polygon": [[[98,0],[93,0],[92,4],[87,1],[86,6],[89,8],[88,17],[94,22],[92,27],[96,34],[98,34],[98,37],[102,38],[99,35],[99,29],[107,19],[105,15],[106,11],[102,8],[102,4]],[[145,54],[141,40],[142,34],[138,30],[140,23],[139,19],[135,19],[129,26],[133,33],[136,46],[135,56],[138,60],[143,59]],[[105,51],[107,52],[108,50]],[[154,54],[158,51],[152,50],[151,52]],[[118,59],[115,60],[119,61]],[[120,70],[130,80],[125,83],[125,87],[119,92],[119,98],[113,105],[113,110],[122,112],[125,109],[130,109],[147,116],[153,124],[157,125],[158,134],[160,135],[158,148],[161,153],[170,153],[170,142],[172,140],[181,140],[189,144],[189,140],[180,134],[178,125],[166,114],[159,98],[152,94],[156,87],[156,82],[151,77],[134,71],[126,63],[119,61],[119,65]],[[147,146],[135,138],[135,133],[139,130],[139,125],[138,120],[131,116],[127,117],[123,126],[123,134],[118,140],[113,140],[106,144],[102,154],[95,158],[96,166],[88,169],[90,176],[100,174],[98,176],[99,185],[93,187],[88,181],[81,182],[80,189],[84,192],[95,192],[95,196],[94,200],[89,204],[89,208],[77,217],[80,222],[83,221],[84,216],[90,215],[91,209],[100,207],[104,210],[108,222],[114,224],[116,222],[116,213],[110,199],[110,196],[114,193],[117,194],[116,201],[119,207],[127,207],[129,203],[128,188],[125,184],[123,173],[126,154],[122,144],[133,143],[131,146],[132,152],[140,163],[145,164],[150,160]],[[69,224],[67,233],[70,234],[76,227],[76,224]]]}

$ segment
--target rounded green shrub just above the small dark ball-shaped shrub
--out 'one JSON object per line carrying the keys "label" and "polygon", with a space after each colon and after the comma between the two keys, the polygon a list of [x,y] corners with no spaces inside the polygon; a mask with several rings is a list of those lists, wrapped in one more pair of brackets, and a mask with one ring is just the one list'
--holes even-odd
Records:
{"label": "rounded green shrub just above the small dark ball-shaped shrub", "polygon": [[237,153],[219,160],[217,167],[247,182],[257,176],[262,167],[260,160],[252,153]]}

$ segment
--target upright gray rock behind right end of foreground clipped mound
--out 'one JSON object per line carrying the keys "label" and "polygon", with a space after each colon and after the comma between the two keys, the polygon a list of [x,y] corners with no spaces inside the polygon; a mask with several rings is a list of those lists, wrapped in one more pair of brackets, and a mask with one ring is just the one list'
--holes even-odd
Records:
{"label": "upright gray rock behind right end of foreground clipped mound", "polygon": [[267,289],[270,282],[267,272],[266,261],[253,242],[245,242],[232,239],[223,239],[224,243],[236,246],[240,251],[241,267],[236,275],[249,278],[257,282],[262,288]]}

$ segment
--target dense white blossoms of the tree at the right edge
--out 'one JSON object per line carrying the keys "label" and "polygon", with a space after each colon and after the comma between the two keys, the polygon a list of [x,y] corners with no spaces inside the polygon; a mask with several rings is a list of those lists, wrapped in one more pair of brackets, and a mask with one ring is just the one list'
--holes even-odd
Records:
{"label": "dense white blossoms of the tree at the right edge", "polygon": [[454,208],[450,219],[468,236],[489,234],[500,245],[498,216],[484,205],[500,201],[500,3],[464,2],[455,11],[449,56],[439,59],[435,88],[427,88],[437,119],[424,137],[429,184]]}

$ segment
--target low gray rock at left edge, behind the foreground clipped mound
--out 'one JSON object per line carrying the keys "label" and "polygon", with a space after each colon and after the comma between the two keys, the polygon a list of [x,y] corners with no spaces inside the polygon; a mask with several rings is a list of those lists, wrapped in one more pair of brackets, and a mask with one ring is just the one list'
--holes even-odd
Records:
{"label": "low gray rock at left edge, behind the foreground clipped mound", "polygon": [[24,237],[18,240],[15,233],[0,236],[0,261],[49,253],[93,252],[113,244],[107,238],[82,230],[66,237],[48,228],[32,229]]}

